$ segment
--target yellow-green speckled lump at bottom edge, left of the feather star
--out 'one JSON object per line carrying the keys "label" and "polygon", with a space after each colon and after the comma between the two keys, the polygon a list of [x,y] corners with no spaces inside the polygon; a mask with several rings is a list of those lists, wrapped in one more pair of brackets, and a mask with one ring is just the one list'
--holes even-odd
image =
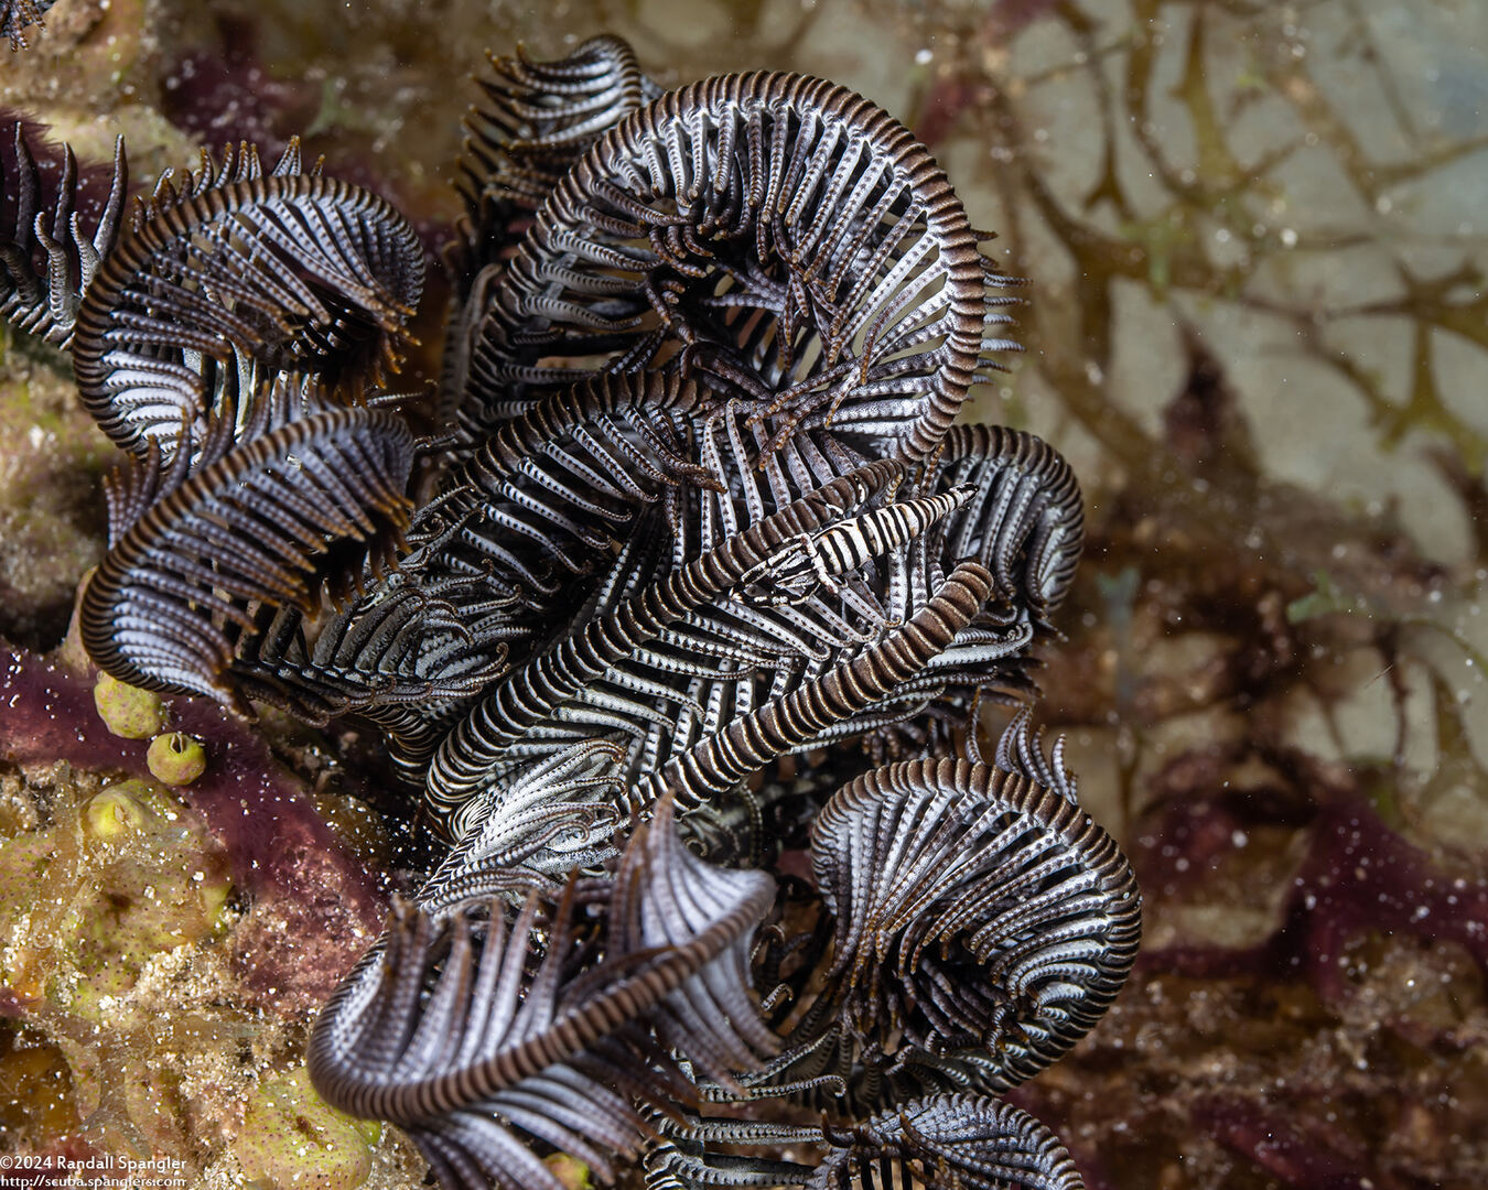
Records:
{"label": "yellow-green speckled lump at bottom edge, left of the feather star", "polygon": [[372,1174],[382,1128],[336,1111],[301,1067],[248,1096],[232,1150],[254,1190],[356,1190]]}

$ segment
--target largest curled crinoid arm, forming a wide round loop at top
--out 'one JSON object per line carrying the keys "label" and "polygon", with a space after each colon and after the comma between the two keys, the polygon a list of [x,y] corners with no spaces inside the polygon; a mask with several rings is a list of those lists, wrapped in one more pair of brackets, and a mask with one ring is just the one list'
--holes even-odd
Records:
{"label": "largest curled crinoid arm, forming a wide round loop at top", "polygon": [[845,88],[754,73],[667,92],[573,164],[467,315],[461,433],[586,369],[680,367],[783,434],[832,425],[921,458],[1010,347],[988,332],[1010,299],[979,242],[924,147]]}

